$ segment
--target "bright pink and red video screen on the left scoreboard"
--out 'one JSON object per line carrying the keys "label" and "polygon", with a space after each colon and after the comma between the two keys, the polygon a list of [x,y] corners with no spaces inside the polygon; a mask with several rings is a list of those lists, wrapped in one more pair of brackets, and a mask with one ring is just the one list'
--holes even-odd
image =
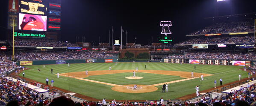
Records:
{"label": "bright pink and red video screen on the left scoreboard", "polygon": [[47,31],[47,16],[19,14],[19,29],[31,31]]}

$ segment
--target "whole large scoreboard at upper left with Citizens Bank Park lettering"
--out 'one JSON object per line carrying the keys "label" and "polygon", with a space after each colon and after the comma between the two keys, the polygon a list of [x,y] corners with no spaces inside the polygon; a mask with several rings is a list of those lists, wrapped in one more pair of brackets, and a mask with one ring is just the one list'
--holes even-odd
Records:
{"label": "whole large scoreboard at upper left with Citizens Bank Park lettering", "polygon": [[13,27],[16,37],[47,37],[47,32],[60,34],[61,0],[9,0],[8,3],[10,35]]}

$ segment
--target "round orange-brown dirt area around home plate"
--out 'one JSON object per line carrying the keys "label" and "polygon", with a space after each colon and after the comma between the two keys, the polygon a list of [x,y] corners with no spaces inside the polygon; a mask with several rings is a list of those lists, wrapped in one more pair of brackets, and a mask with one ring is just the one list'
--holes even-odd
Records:
{"label": "round orange-brown dirt area around home plate", "polygon": [[154,92],[157,90],[155,86],[146,86],[146,85],[137,85],[137,89],[133,89],[134,85],[123,85],[123,86],[114,86],[111,89],[117,92],[125,93],[145,93],[145,92]]}

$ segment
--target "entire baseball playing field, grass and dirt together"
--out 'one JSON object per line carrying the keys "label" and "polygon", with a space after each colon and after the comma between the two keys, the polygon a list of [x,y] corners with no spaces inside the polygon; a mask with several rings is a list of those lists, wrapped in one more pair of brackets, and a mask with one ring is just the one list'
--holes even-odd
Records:
{"label": "entire baseball playing field, grass and dirt together", "polygon": [[[145,68],[146,65],[146,68]],[[111,66],[111,70],[109,70]],[[196,69],[194,69],[196,66]],[[25,77],[41,83],[45,79],[54,80],[54,86],[96,99],[108,100],[159,100],[175,99],[195,93],[195,86],[200,91],[217,86],[219,79],[223,84],[246,78],[243,66],[177,64],[177,63],[79,63],[25,66]],[[138,67],[138,71],[136,71]],[[40,68],[41,72],[38,72]],[[50,69],[53,69],[51,74]],[[88,75],[85,71],[88,70]],[[135,76],[133,77],[133,71]],[[191,72],[194,77],[191,77]],[[60,74],[57,78],[57,73]],[[204,80],[201,80],[201,74]],[[22,76],[22,73],[19,74]],[[168,83],[168,92],[162,92],[162,85]],[[137,89],[133,86],[137,85]]]}

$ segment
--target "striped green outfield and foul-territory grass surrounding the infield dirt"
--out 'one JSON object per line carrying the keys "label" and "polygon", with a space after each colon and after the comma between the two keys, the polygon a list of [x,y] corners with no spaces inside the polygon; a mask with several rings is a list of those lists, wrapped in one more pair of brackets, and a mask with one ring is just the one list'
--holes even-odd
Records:
{"label": "striped green outfield and foul-territory grass surrounding the infield dirt", "polygon": [[[113,86],[108,86],[99,83],[92,83],[84,80],[77,80],[69,77],[60,77],[57,78],[56,73],[67,73],[67,72],[81,72],[81,71],[94,71],[94,70],[109,70],[109,66],[112,67],[112,70],[123,70],[123,69],[134,69],[138,67],[138,69],[145,69],[145,65],[149,70],[166,70],[166,71],[182,71],[182,72],[200,72],[206,74],[214,74],[213,76],[204,77],[205,80],[201,81],[200,78],[196,78],[193,80],[186,80],[177,83],[168,84],[168,92],[162,93],[162,86],[158,87],[158,90],[155,92],[148,93],[123,93],[123,92],[115,92],[111,88]],[[194,66],[196,66],[196,70],[194,70]],[[223,84],[230,83],[232,81],[238,80],[238,74],[241,74],[242,78],[247,77],[247,72],[242,70],[243,66],[224,66],[224,65],[203,65],[203,64],[177,64],[177,63],[80,63],[80,64],[53,64],[53,65],[34,65],[34,66],[25,66],[26,68],[30,68],[25,71],[25,77],[30,78],[32,80],[36,80],[41,83],[46,83],[45,79],[48,77],[50,80],[53,79],[55,81],[54,86],[67,89],[72,92],[77,92],[82,95],[87,95],[90,97],[94,97],[97,99],[103,99],[106,97],[108,100],[117,99],[117,100],[159,100],[161,97],[164,99],[175,99],[177,97],[182,97],[185,95],[189,95],[195,93],[195,86],[200,85],[200,91],[206,90],[214,87],[213,82],[217,80],[217,86],[219,85],[219,79],[222,77]],[[41,72],[38,72],[37,69],[40,68]],[[50,74],[50,69],[53,68],[53,72],[55,74]],[[89,72],[90,73],[90,72]],[[121,74],[123,76],[120,78],[119,76],[104,76],[99,77],[99,80],[108,79],[111,77],[113,83],[124,83],[122,82],[127,73]],[[139,74],[139,73],[136,73]],[[22,73],[19,74],[22,76]],[[131,74],[132,75],[132,74]],[[129,76],[131,76],[129,75]],[[151,77],[158,77],[152,75]],[[172,77],[172,76],[170,76]],[[89,78],[89,77],[88,77]],[[164,82],[166,78],[159,78]],[[157,83],[159,80],[155,80]],[[171,80],[171,79],[170,79]],[[154,80],[152,80],[154,82]],[[160,81],[161,82],[161,81]],[[147,81],[144,82],[148,83]],[[150,82],[151,83],[151,82]],[[126,84],[134,84],[133,82],[129,82]],[[145,85],[144,84],[144,85]]]}

